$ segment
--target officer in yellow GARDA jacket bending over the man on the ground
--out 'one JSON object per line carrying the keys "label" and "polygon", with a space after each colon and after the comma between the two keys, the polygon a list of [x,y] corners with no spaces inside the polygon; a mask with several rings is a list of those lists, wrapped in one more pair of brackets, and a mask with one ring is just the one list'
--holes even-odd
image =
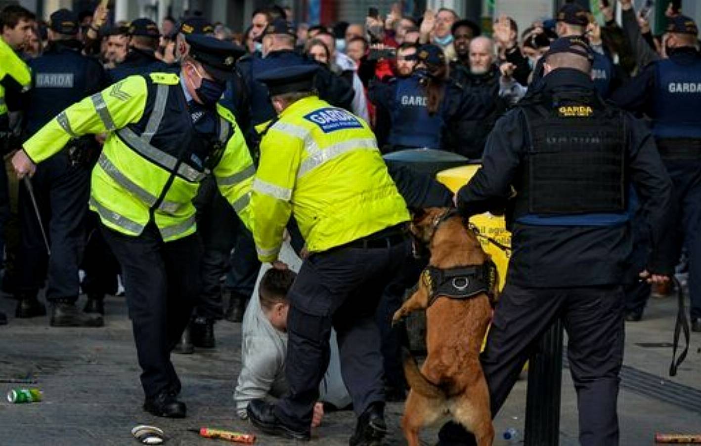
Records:
{"label": "officer in yellow GARDA jacket bending over the man on the ground", "polygon": [[387,428],[374,312],[410,253],[404,234],[409,213],[369,125],[316,96],[316,69],[285,67],[258,78],[278,113],[261,140],[253,183],[258,255],[285,267],[278,253],[291,215],[309,255],[288,294],[285,374],[290,394],[275,405],[253,400],[248,414],[272,435],[310,438],[333,327],[341,373],[358,415],[350,444],[375,445]]}

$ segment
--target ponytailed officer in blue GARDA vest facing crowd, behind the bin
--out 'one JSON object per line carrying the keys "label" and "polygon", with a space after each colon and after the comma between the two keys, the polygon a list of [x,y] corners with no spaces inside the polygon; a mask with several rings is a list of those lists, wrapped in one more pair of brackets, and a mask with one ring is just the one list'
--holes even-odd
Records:
{"label": "ponytailed officer in blue GARDA vest facing crowd, behind the bin", "polygon": [[[440,47],[423,45],[416,57],[418,64],[408,78],[370,84],[370,100],[378,113],[388,114],[391,120],[388,140],[378,141],[379,145],[386,143],[392,151],[432,148],[479,158],[481,150],[465,153],[472,137],[468,129],[473,120],[485,118],[494,109],[494,101],[486,93],[465,90],[449,78]],[[434,88],[440,90],[440,103],[431,111],[428,90]]]}

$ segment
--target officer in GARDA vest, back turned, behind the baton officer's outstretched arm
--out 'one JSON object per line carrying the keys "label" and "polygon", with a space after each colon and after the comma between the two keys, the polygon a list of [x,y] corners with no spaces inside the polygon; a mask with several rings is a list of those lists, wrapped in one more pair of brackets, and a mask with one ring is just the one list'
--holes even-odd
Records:
{"label": "officer in GARDA vest, back turned, behind the baton officer's outstretched arm", "polygon": [[[81,55],[78,15],[60,9],[50,17],[49,46],[29,61],[32,84],[25,100],[25,133],[34,134],[63,109],[100,91],[104,71],[93,58]],[[60,116],[59,116],[60,120]],[[34,194],[48,231],[46,246],[27,188],[20,187],[21,247],[18,252],[17,316],[43,316],[36,300],[47,273],[46,300],[53,304],[51,326],[102,326],[102,317],[75,307],[80,285],[78,270],[85,246],[85,218],[90,193],[90,158],[97,152],[90,135],[74,139],[63,151],[42,162],[32,178]]]}

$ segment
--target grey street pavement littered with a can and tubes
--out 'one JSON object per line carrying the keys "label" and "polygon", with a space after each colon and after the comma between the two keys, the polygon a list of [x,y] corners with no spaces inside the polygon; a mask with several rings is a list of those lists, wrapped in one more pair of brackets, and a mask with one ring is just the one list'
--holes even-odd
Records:
{"label": "grey street pavement littered with a can and tubes", "polygon": [[[240,368],[239,324],[217,323],[217,349],[175,355],[188,418],[161,419],[141,409],[139,369],[124,300],[108,298],[106,303],[104,328],[50,328],[47,318],[11,318],[8,326],[0,326],[0,390],[23,386],[13,384],[14,379],[34,379],[36,387],[44,392],[42,403],[0,403],[0,445],[135,445],[130,430],[137,424],[163,428],[168,435],[167,445],[224,444],[198,438],[187,431],[191,427],[255,432],[233,411],[231,395]],[[11,299],[0,298],[0,309],[8,314],[13,314],[14,304]],[[672,299],[653,300],[646,319],[627,326],[627,365],[655,375],[661,383],[668,382],[671,349],[664,345],[655,347],[655,343],[671,340],[674,314]],[[690,357],[673,381],[690,386],[690,391],[701,389],[700,345],[695,334]],[[576,400],[567,370],[562,400],[560,444],[576,445]],[[524,405],[522,380],[495,421],[496,445],[505,444],[500,438],[506,428],[522,429]],[[390,404],[387,412],[390,435],[386,444],[404,444],[399,427],[402,405]],[[620,393],[619,412],[622,445],[651,445],[653,434],[658,431],[701,431],[700,412],[644,396],[626,386]],[[315,430],[312,444],[347,445],[354,426],[352,412],[328,414]],[[435,443],[435,429],[422,436],[426,444]],[[259,445],[293,443],[265,435],[259,435],[257,441]]]}

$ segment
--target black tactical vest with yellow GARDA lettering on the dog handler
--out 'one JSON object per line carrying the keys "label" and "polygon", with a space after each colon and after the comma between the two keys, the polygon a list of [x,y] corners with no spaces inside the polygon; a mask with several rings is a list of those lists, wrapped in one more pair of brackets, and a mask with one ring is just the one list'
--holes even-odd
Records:
{"label": "black tactical vest with yellow GARDA lettering on the dog handler", "polygon": [[625,211],[622,112],[597,95],[543,95],[521,107],[529,141],[515,216]]}

